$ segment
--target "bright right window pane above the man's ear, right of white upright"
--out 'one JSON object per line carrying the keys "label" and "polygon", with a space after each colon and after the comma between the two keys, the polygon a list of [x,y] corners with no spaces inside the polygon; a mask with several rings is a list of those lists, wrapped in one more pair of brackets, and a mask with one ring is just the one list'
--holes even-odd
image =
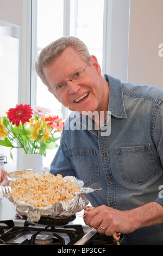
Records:
{"label": "bright right window pane above the man's ear, right of white upright", "polygon": [[85,42],[102,66],[104,1],[71,1],[70,35]]}

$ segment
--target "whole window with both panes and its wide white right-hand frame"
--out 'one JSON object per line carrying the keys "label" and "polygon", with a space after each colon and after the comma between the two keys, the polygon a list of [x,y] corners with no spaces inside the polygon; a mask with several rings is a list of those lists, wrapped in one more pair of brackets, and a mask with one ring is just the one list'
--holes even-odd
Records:
{"label": "whole window with both panes and its wide white right-hand frame", "polygon": [[[128,51],[129,2],[130,0],[32,1],[32,106],[48,107],[53,114],[58,114],[63,119],[68,116],[67,109],[48,92],[34,71],[35,58],[41,49],[63,35],[74,35],[83,40],[90,54],[97,57],[103,72],[114,74],[114,69],[111,69],[112,64],[115,64],[112,56],[117,54],[117,49],[124,54]],[[121,19],[120,13],[123,14]],[[127,74],[127,64],[127,59],[117,59],[113,66],[120,74],[122,68]],[[126,74],[124,77],[127,77]],[[47,154],[46,166],[51,163],[54,154],[54,151]]]}

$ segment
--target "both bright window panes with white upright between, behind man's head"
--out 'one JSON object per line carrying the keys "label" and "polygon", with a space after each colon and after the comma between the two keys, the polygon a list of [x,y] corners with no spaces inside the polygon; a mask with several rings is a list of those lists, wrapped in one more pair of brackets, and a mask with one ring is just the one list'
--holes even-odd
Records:
{"label": "both bright window panes with white upright between, behind man's head", "polygon": [[[32,9],[35,14],[33,16],[37,17],[32,23],[33,68],[35,57],[42,48],[63,35],[75,35],[82,39],[89,47],[90,53],[95,54],[102,65],[103,0],[39,0],[33,1]],[[32,94],[35,92],[32,105],[40,106],[43,102],[43,105],[52,109],[55,114],[67,117],[66,109],[48,92],[39,77],[32,79],[32,88],[35,87],[36,90],[32,89]]]}

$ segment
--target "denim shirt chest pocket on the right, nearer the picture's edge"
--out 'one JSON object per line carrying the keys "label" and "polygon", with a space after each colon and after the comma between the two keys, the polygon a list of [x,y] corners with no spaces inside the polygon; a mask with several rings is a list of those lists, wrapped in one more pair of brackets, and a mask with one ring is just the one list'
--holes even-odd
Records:
{"label": "denim shirt chest pocket on the right, nearer the picture's edge", "polygon": [[123,180],[145,184],[159,173],[150,144],[138,147],[116,147]]}

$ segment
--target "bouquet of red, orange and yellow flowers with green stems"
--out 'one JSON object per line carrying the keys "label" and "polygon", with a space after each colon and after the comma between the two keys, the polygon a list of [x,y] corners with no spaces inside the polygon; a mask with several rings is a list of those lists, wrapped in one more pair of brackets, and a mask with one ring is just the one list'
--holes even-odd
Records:
{"label": "bouquet of red, orange and yellow flowers with green stems", "polygon": [[[47,149],[58,147],[56,141],[64,126],[58,115],[48,113],[47,108],[27,104],[10,108],[7,117],[0,117],[0,145],[46,156]],[[10,157],[13,159],[11,150]]]}

